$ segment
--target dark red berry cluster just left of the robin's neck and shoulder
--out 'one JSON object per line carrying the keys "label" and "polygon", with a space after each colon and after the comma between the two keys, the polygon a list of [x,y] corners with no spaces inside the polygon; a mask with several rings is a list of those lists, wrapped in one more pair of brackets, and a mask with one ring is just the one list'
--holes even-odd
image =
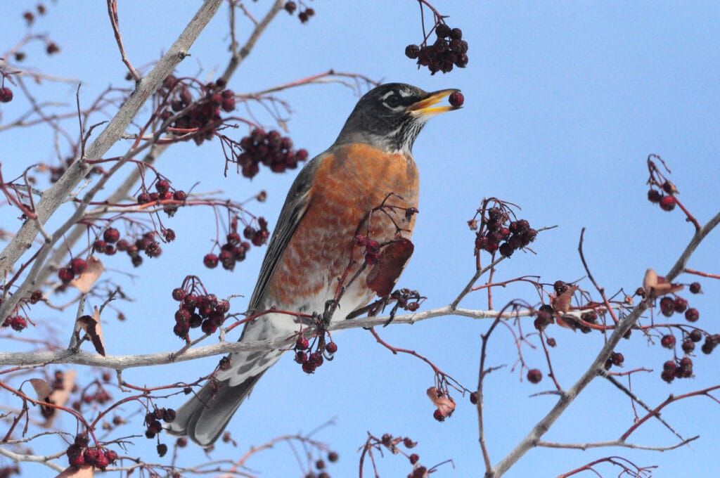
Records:
{"label": "dark red berry cluster just left of the robin's neck and shoulder", "polygon": [[286,169],[297,168],[297,163],[307,160],[306,150],[293,150],[292,140],[276,130],[265,132],[255,128],[240,140],[240,148],[243,153],[238,156],[238,164],[246,178],[255,176],[261,163],[274,173],[282,173]]}

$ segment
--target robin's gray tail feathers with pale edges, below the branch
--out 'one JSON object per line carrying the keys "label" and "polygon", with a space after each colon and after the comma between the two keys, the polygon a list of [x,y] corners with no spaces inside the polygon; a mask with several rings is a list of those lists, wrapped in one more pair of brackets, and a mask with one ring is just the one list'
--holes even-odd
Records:
{"label": "robin's gray tail feathers with pale edges, below the branch", "polygon": [[220,387],[217,382],[207,382],[177,410],[175,420],[168,425],[168,433],[187,435],[202,447],[212,445],[266,370],[262,369],[236,385],[230,385],[229,379],[220,382]]}

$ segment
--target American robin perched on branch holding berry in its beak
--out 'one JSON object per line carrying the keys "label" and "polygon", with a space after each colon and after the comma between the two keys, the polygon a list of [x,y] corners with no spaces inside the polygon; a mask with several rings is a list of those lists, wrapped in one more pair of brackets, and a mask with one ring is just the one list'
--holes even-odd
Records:
{"label": "American robin perched on branch holding berry in its beak", "polygon": [[[327,316],[326,307],[333,304],[328,300],[336,300],[325,319],[343,320],[379,289],[388,289],[387,282],[394,287],[409,255],[400,253],[402,263],[378,271],[382,251],[367,258],[356,235],[381,248],[410,238],[418,206],[413,142],[429,117],[457,109],[433,106],[454,91],[428,93],[399,83],[372,89],[335,143],[302,168],[285,199],[248,308],[248,314],[270,312],[246,323],[240,336],[241,342],[286,339],[287,345],[233,353],[230,368],[217,371],[214,383],[177,410],[170,433],[186,434],[201,446],[217,440],[258,379],[297,338],[300,317],[271,310]],[[378,286],[378,276],[386,284]]]}

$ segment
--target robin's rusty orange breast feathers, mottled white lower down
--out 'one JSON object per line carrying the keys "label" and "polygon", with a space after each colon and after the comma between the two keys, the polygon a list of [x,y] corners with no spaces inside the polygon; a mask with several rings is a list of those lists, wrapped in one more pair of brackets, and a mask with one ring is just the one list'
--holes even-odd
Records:
{"label": "robin's rusty orange breast feathers, mottled white lower down", "polygon": [[[268,292],[278,305],[300,307],[298,292],[307,297],[334,289],[348,265],[352,264],[350,277],[364,261],[364,250],[354,245],[356,234],[380,244],[397,233],[410,238],[415,214],[406,212],[418,207],[418,192],[418,168],[409,156],[361,144],[326,155],[307,193],[305,215],[269,280]],[[355,287],[365,283],[367,269]]]}

